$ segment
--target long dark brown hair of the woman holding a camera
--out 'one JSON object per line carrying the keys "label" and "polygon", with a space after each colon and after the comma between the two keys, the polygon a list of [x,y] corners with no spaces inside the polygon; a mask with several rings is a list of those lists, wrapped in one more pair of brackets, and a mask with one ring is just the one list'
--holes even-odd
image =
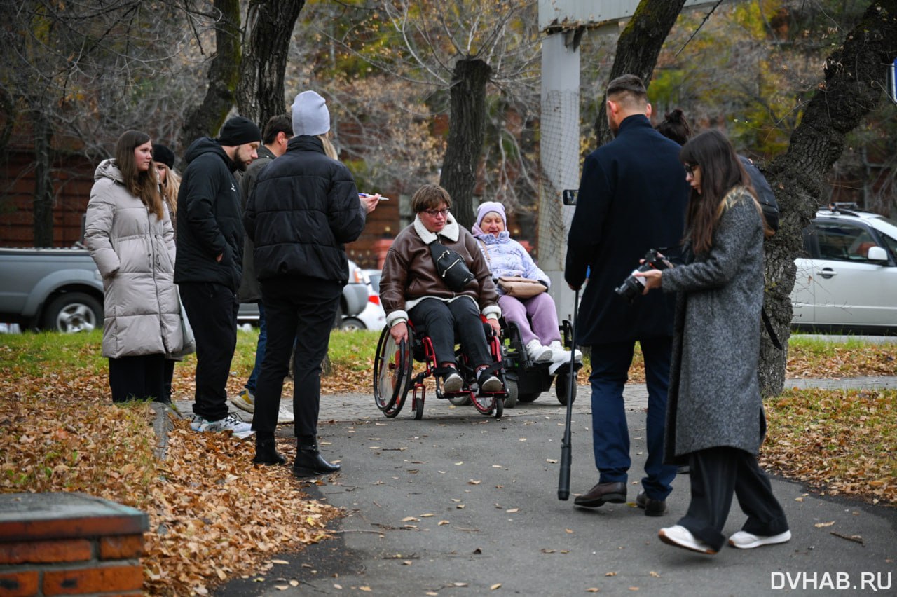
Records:
{"label": "long dark brown hair of the woman holding a camera", "polygon": [[[723,199],[735,186],[744,186],[753,197],[751,181],[732,143],[717,130],[692,137],[679,151],[679,159],[684,164],[701,169],[701,193],[692,188],[685,221],[692,240],[692,251],[695,254],[706,253],[713,246],[713,233],[725,208]],[[755,197],[753,203],[762,218],[760,204]]]}

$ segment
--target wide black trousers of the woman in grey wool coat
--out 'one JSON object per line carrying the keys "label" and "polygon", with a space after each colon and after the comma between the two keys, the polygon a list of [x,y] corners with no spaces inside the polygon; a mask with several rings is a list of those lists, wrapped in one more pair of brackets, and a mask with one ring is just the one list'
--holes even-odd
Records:
{"label": "wide black trousers of the woman in grey wool coat", "polygon": [[742,531],[763,536],[788,531],[785,511],[772,495],[770,480],[756,456],[734,447],[716,447],[692,453],[689,465],[692,501],[679,524],[692,535],[713,549],[725,545],[722,530],[733,493],[747,515]]}

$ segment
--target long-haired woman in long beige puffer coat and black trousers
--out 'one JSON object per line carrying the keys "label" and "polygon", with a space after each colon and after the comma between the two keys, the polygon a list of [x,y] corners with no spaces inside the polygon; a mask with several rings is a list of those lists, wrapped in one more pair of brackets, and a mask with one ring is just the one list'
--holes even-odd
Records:
{"label": "long-haired woman in long beige puffer coat and black trousers", "polygon": [[164,397],[165,354],[183,343],[174,230],[150,136],[127,131],[93,175],[84,238],[103,277],[103,356],[113,402]]}

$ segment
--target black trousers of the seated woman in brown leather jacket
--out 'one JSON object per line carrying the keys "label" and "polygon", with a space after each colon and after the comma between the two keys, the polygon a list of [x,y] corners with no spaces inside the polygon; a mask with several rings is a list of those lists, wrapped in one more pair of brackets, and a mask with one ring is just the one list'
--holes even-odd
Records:
{"label": "black trousers of the seated woman in brown leather jacket", "polygon": [[423,299],[408,311],[408,316],[417,333],[430,336],[437,367],[455,362],[456,338],[472,368],[492,365],[480,309],[473,300],[460,297],[447,303],[440,299]]}

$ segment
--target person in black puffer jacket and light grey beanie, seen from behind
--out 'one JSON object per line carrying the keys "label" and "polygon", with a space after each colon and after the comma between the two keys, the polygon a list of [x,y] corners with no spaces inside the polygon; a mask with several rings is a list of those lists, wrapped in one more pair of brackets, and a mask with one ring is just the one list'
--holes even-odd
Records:
{"label": "person in black puffer jacket and light grey beanie, seen from behind", "polygon": [[293,474],[336,472],[318,453],[321,361],[340,294],[349,279],[344,244],[361,234],[379,195],[359,200],[352,174],[336,160],[327,138],[330,113],[324,98],[304,91],[292,104],[292,131],[286,153],[257,178],[243,223],[256,245],[268,342],[256,385],[254,463],[283,464],[274,449],[274,428],[283,377],[293,360],[293,414],[297,440]]}

